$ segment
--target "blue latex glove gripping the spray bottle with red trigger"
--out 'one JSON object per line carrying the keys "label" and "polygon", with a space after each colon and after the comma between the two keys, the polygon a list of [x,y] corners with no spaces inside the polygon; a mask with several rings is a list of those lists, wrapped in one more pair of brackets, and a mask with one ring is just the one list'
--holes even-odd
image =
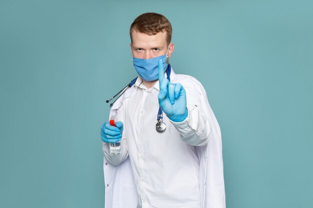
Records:
{"label": "blue latex glove gripping the spray bottle with red trigger", "polygon": [[102,141],[106,143],[115,143],[120,141],[123,129],[123,123],[120,121],[116,122],[116,127],[111,126],[110,122],[105,121],[101,126]]}

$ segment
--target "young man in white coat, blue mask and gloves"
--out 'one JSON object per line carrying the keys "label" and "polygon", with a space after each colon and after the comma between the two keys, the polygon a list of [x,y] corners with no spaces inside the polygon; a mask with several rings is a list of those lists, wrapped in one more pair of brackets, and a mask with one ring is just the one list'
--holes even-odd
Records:
{"label": "young man in white coat, blue mask and gloves", "polygon": [[[168,64],[170,22],[144,13],[129,32],[139,76],[112,106],[116,127],[101,127],[105,208],[224,208],[219,126],[202,85]],[[111,155],[108,143],[120,140]]]}

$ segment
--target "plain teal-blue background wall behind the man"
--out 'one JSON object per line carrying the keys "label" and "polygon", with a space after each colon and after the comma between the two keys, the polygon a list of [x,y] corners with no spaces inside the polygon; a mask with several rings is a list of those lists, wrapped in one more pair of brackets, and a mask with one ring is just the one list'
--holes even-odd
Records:
{"label": "plain teal-blue background wall behind the man", "polygon": [[128,30],[148,11],[207,92],[227,208],[313,207],[311,2],[0,0],[0,207],[104,207],[105,100],[136,76]]}

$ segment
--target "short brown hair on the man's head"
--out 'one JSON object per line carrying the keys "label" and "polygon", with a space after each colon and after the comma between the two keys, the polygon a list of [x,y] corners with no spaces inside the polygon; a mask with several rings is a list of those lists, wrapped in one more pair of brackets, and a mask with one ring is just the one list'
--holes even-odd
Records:
{"label": "short brown hair on the man's head", "polygon": [[138,32],[147,34],[147,35],[155,35],[158,32],[165,32],[167,45],[171,40],[171,24],[168,19],[162,14],[147,12],[143,13],[135,18],[130,25],[129,35],[131,38],[131,33],[133,30]]}

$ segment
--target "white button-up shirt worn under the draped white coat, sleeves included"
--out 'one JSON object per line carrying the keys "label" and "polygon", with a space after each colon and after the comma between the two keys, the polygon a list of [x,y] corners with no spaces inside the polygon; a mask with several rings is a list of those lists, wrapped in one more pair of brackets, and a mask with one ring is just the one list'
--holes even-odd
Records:
{"label": "white button-up shirt worn under the draped white coat, sleeves included", "polygon": [[192,91],[190,83],[184,86],[192,77],[184,76],[179,82],[187,86],[185,121],[172,122],[163,114],[166,130],[156,132],[159,83],[147,89],[138,77],[131,97],[117,110],[117,120],[124,124],[122,153],[110,156],[108,144],[106,148],[104,145],[104,156],[113,165],[129,157],[138,194],[137,208],[200,207],[199,159],[194,146],[207,144],[210,126],[197,110],[199,94]]}

